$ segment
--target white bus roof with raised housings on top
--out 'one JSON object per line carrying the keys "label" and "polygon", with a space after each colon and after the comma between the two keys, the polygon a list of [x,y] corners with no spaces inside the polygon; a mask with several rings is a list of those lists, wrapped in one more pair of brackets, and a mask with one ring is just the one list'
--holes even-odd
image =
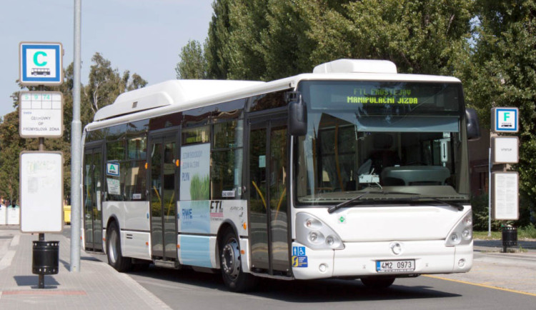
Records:
{"label": "white bus roof with raised housings on top", "polygon": [[[173,80],[127,91],[114,104],[96,111],[93,124],[108,124],[144,119],[174,111],[241,99],[255,94],[292,89],[303,80],[425,81],[460,83],[451,76],[397,74],[391,61],[339,59],[314,68],[312,74],[299,74],[276,81]],[[149,111],[150,110],[150,111]],[[139,113],[137,113],[139,112]],[[111,119],[114,119],[113,121]],[[108,121],[106,121],[108,120]],[[101,123],[102,122],[102,123]],[[89,126],[93,127],[92,125]]]}

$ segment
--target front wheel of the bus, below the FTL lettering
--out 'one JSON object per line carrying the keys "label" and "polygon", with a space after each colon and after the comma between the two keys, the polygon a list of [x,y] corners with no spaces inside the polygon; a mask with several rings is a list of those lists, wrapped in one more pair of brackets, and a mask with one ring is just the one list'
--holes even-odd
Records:
{"label": "front wheel of the bus, below the FTL lettering", "polygon": [[219,264],[222,269],[222,277],[230,291],[249,291],[254,289],[257,279],[252,274],[242,271],[240,245],[232,230],[224,233],[224,238],[219,246]]}

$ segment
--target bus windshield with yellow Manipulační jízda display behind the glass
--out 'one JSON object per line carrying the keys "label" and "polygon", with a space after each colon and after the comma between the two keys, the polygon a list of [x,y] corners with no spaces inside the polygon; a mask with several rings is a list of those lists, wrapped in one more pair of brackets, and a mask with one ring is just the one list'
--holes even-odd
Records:
{"label": "bus windshield with yellow Manipula\u010dn\u00ed j\u00edzda display behind the glass", "polygon": [[363,191],[469,198],[461,84],[302,81],[299,91],[307,134],[294,140],[298,206]]}

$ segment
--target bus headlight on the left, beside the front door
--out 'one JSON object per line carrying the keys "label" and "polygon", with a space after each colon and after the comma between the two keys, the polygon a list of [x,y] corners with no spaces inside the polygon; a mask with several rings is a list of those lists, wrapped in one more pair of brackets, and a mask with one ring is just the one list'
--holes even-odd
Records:
{"label": "bus headlight on the left, beside the front door", "polygon": [[296,241],[311,249],[344,249],[342,240],[331,227],[304,212],[296,215]]}

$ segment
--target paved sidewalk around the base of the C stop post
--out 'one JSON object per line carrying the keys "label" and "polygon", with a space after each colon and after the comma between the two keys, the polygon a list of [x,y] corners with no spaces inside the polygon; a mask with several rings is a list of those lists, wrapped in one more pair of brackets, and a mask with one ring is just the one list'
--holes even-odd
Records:
{"label": "paved sidewalk around the base of the C stop post", "polygon": [[170,309],[126,274],[81,252],[80,272],[69,271],[70,242],[61,234],[46,234],[59,241],[59,274],[31,273],[34,234],[21,234],[19,226],[0,227],[0,309]]}

